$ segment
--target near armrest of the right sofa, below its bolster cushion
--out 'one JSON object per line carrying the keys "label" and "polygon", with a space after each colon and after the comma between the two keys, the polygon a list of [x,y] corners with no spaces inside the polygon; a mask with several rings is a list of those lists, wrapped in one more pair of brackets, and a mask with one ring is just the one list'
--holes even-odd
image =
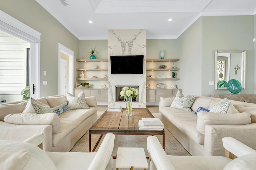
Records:
{"label": "near armrest of the right sofa, below its bolster cushion", "polygon": [[256,149],[256,123],[247,125],[206,125],[204,147],[211,155],[224,156],[222,138],[233,137],[245,145]]}

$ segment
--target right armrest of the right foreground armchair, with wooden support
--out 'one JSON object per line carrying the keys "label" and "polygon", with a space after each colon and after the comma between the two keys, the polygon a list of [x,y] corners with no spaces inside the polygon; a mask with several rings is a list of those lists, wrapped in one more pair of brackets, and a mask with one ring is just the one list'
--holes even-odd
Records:
{"label": "right armrest of the right foreground armchair, with wooden support", "polygon": [[234,159],[235,156],[244,156],[247,154],[256,153],[256,150],[244,145],[244,143],[232,138],[224,137],[222,138],[223,147],[225,148],[225,156]]}

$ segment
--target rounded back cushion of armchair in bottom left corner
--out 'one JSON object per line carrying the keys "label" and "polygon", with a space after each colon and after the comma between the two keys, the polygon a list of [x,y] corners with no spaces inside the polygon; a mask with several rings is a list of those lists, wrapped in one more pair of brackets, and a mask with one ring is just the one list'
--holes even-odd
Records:
{"label": "rounded back cushion of armchair in bottom left corner", "polygon": [[40,148],[20,141],[0,141],[0,165],[5,170],[56,170]]}

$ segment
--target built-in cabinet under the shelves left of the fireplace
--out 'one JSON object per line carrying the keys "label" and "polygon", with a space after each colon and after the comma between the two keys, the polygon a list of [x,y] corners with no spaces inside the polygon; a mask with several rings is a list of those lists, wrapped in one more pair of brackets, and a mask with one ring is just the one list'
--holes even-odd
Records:
{"label": "built-in cabinet under the shelves left of the fireplace", "polygon": [[75,88],[74,96],[76,97],[81,91],[84,91],[85,97],[95,96],[96,102],[108,102],[108,89]]}

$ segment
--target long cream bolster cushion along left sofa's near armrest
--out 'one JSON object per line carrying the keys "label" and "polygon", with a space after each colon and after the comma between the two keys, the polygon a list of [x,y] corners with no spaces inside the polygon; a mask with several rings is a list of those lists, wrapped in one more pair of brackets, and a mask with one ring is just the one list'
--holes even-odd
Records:
{"label": "long cream bolster cushion along left sofa's near armrest", "polygon": [[56,113],[16,113],[4,117],[7,123],[18,125],[52,125],[52,134],[60,132],[60,119]]}

